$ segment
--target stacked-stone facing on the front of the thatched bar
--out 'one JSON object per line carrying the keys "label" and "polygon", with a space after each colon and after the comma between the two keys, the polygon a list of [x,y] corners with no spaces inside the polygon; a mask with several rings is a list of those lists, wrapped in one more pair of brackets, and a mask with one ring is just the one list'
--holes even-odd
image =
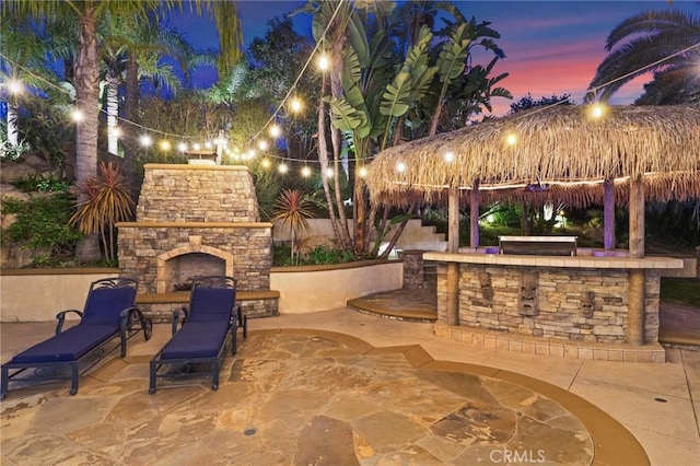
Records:
{"label": "stacked-stone facing on the front of the thatched bar", "polygon": [[[482,291],[483,273],[490,275],[490,299]],[[538,315],[520,314],[522,273],[537,273]],[[438,266],[438,277],[439,321],[447,322],[444,264]],[[658,341],[660,277],[657,270],[646,271],[646,342]],[[460,266],[459,287],[462,326],[570,341],[626,342],[627,270],[469,264]],[[593,314],[586,317],[588,303]]]}

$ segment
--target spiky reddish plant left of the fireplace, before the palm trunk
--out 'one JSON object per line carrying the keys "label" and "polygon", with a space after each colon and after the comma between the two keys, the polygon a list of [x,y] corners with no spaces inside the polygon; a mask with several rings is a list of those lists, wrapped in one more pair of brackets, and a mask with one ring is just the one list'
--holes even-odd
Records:
{"label": "spiky reddish plant left of the fireplace, before the palm trunk", "polygon": [[84,199],[69,223],[85,234],[100,235],[108,263],[116,257],[115,224],[129,220],[135,202],[121,168],[112,162],[101,162],[97,176],[78,185]]}

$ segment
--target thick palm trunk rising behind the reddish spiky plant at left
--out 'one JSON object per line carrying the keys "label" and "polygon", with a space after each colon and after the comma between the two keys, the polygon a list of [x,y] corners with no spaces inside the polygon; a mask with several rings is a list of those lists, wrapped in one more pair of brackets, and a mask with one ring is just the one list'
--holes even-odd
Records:
{"label": "thick palm trunk rising behind the reddish spiky plant at left", "polygon": [[[80,18],[78,57],[75,58],[75,101],[83,113],[83,123],[75,131],[75,182],[83,185],[97,175],[97,127],[100,125],[100,54],[94,18],[95,5],[88,5]],[[86,195],[78,193],[78,202]],[[83,263],[102,259],[97,235],[88,235],[77,249]]]}

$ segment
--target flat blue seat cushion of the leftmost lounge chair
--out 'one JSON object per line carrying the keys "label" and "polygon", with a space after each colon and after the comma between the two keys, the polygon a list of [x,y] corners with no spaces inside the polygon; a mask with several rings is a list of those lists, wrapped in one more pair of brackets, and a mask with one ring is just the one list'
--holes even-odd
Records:
{"label": "flat blue seat cushion of the leftmost lounge chair", "polygon": [[51,338],[34,345],[12,358],[15,364],[35,362],[75,361],[88,351],[115,335],[114,325],[82,325],[67,329]]}

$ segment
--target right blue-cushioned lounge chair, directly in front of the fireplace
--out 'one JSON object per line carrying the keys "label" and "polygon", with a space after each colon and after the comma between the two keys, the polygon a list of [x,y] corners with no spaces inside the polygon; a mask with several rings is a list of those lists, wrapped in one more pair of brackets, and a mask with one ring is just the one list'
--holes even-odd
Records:
{"label": "right blue-cushioned lounge chair, directly in front of the fireplace", "polygon": [[[236,280],[210,276],[192,280],[189,308],[173,312],[173,336],[151,360],[149,394],[155,393],[158,378],[211,374],[211,389],[219,388],[219,370],[226,357],[237,350],[236,330],[247,336],[247,319],[236,305]],[[178,328],[179,324],[179,328]],[[194,370],[205,369],[202,370]],[[208,369],[208,371],[206,370]]]}

